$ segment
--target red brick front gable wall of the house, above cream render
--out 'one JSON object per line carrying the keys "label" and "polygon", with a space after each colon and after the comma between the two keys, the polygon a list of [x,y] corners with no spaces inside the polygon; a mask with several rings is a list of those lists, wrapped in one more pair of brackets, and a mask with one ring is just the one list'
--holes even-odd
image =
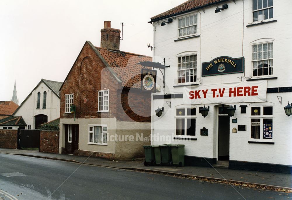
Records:
{"label": "red brick front gable wall of the house, above cream render", "polygon": [[[69,72],[60,90],[60,118],[74,118],[74,114],[65,114],[65,94],[74,93],[76,118],[100,118],[116,116],[116,90],[119,84],[107,70],[100,58],[85,43],[79,57]],[[104,70],[102,70],[104,69]],[[110,112],[98,111],[98,90],[109,89]],[[84,99],[86,98],[86,103]]]}

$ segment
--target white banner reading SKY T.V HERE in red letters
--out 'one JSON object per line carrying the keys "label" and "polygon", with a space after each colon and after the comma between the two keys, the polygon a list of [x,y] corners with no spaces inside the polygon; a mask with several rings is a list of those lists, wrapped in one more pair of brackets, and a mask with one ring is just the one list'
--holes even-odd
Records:
{"label": "white banner reading SKY T.V HERE in red letters", "polygon": [[184,87],[183,92],[185,105],[264,102],[266,99],[267,80]]}

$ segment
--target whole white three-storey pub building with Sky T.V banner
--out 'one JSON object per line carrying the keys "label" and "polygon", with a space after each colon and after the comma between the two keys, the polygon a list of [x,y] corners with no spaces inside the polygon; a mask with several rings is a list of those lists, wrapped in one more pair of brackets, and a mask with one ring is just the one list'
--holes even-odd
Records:
{"label": "whole white three-storey pub building with Sky T.V banner", "polygon": [[170,66],[157,70],[152,145],[184,144],[187,165],[291,173],[291,7],[190,0],[152,17],[153,62]]}

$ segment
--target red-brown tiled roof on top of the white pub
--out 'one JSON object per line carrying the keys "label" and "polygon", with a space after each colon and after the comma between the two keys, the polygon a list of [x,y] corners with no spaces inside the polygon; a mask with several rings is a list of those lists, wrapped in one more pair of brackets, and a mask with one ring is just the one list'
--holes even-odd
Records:
{"label": "red-brown tiled roof on top of the white pub", "polygon": [[207,6],[208,4],[216,3],[216,2],[220,2],[220,1],[224,1],[224,0],[189,0],[189,1],[186,1],[185,3],[182,3],[182,4],[172,8],[170,10],[167,10],[164,13],[161,13],[159,15],[151,17],[151,21],[152,22],[157,21],[157,19],[162,18],[162,17],[179,14],[179,13],[185,12],[187,10],[191,10],[191,9],[198,8],[201,6]]}

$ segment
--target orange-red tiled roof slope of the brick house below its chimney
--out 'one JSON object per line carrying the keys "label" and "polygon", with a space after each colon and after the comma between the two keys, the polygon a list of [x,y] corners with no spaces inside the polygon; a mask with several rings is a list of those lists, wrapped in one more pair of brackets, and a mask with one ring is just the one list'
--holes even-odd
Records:
{"label": "orange-red tiled roof slope of the brick house below its chimney", "polygon": [[152,57],[123,51],[95,47],[122,81],[122,86],[140,88],[141,61],[152,61]]}

